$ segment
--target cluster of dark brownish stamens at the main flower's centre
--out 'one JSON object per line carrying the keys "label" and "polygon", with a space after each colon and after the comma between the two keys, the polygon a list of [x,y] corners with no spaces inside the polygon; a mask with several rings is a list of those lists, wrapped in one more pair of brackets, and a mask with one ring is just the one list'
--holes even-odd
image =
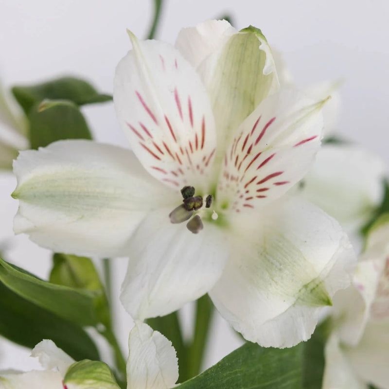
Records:
{"label": "cluster of dark brownish stamens at the main flower's centre", "polygon": [[[184,186],[181,189],[181,195],[183,198],[182,204],[170,212],[170,221],[171,223],[182,223],[190,219],[186,227],[196,234],[204,227],[200,213],[210,212],[208,209],[212,205],[213,196],[206,196],[204,201],[203,196],[195,196],[195,188],[193,186]],[[217,213],[213,211],[211,218],[216,220]]]}

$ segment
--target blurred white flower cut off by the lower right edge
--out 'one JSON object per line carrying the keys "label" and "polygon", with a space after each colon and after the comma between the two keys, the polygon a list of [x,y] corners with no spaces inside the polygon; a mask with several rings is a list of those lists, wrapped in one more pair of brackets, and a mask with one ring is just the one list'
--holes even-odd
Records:
{"label": "blurred white flower cut off by the lower right edge", "polygon": [[334,297],[323,389],[389,389],[389,217],[371,231],[353,284]]}

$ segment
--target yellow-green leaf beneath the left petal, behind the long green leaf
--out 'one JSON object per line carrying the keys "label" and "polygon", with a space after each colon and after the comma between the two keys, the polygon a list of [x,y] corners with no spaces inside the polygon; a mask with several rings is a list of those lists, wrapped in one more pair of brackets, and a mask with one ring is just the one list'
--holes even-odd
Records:
{"label": "yellow-green leaf beneath the left petal, behind the long green leaf", "polygon": [[95,300],[96,313],[100,322],[109,327],[108,301],[93,262],[86,257],[55,253],[53,263],[49,278],[51,283],[99,292]]}

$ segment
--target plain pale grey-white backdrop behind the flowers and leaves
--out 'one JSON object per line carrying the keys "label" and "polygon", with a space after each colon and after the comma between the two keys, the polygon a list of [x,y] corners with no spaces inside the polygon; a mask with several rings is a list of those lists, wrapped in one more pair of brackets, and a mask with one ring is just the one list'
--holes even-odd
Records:
{"label": "plain pale grey-white backdrop behind the flowers and leaves", "polygon": [[[144,38],[152,13],[152,0],[0,0],[0,78],[13,86],[74,74],[112,93],[116,64],[130,49],[125,30]],[[166,0],[157,37],[174,43],[181,27],[224,15],[231,16],[237,29],[250,24],[261,28],[269,44],[283,53],[299,87],[341,80],[338,134],[389,162],[387,0]],[[98,141],[126,146],[111,103],[83,110]],[[10,193],[14,187],[11,175],[0,174],[0,248],[7,246],[7,258],[45,278],[49,251],[25,236],[13,237],[17,201]],[[118,300],[125,267],[125,259],[115,262],[113,296],[116,329],[127,353],[132,322]],[[184,320],[189,322],[190,306],[185,311]],[[240,344],[219,317],[211,336],[208,366]],[[0,369],[36,368],[29,354],[0,340]]]}

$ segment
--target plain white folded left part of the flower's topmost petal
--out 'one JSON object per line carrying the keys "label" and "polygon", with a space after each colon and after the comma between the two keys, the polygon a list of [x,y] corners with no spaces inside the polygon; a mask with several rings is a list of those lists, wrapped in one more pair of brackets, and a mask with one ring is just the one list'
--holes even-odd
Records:
{"label": "plain white folded left part of the flower's topmost petal", "polygon": [[196,27],[181,29],[175,46],[197,68],[237,33],[227,20],[206,20]]}

